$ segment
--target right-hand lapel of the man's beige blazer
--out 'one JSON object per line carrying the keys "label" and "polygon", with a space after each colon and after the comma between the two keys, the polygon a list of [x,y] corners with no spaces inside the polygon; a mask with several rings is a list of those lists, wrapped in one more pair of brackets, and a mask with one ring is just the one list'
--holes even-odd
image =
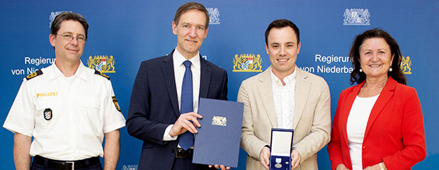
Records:
{"label": "right-hand lapel of the man's beige blazer", "polygon": [[295,129],[297,123],[299,123],[300,117],[307,104],[309,96],[309,89],[311,89],[311,83],[307,81],[307,75],[302,72],[299,67],[295,68],[296,72],[296,87],[295,87],[295,106],[294,117],[292,120],[292,128]]}

